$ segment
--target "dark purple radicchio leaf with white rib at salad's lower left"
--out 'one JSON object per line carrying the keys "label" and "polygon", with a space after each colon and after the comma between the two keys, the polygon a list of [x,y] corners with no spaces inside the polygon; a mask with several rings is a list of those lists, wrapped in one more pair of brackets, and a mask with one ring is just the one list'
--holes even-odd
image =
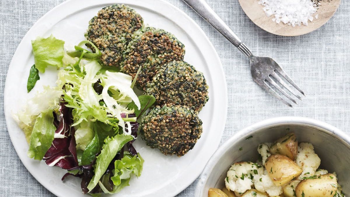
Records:
{"label": "dark purple radicchio leaf with white rib at salad's lower left", "polygon": [[[55,131],[54,141],[49,150],[45,153],[43,160],[49,166],[58,166],[63,169],[70,169],[77,166],[75,149],[74,128],[71,109],[66,107],[67,103],[61,101],[59,104],[59,112],[61,120]],[[73,141],[73,142],[72,142]],[[74,147],[73,147],[74,145]]]}

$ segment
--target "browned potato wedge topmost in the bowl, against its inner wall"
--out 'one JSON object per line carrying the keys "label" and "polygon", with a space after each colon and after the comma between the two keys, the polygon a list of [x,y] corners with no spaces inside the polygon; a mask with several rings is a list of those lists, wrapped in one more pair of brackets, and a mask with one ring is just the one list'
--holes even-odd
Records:
{"label": "browned potato wedge topmost in the bowl, against its inner wall", "polygon": [[279,138],[270,147],[271,154],[281,154],[287,156],[293,161],[296,158],[298,152],[298,141],[296,140],[295,134],[290,133],[286,136]]}

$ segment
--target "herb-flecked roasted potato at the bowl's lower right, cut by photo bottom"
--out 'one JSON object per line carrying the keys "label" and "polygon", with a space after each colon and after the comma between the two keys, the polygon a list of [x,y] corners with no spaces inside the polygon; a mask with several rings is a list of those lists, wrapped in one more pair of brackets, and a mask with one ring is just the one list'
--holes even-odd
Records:
{"label": "herb-flecked roasted potato at the bowl's lower right, cut by photo bottom", "polygon": [[311,176],[302,180],[295,188],[296,197],[333,197],[338,184],[334,174]]}

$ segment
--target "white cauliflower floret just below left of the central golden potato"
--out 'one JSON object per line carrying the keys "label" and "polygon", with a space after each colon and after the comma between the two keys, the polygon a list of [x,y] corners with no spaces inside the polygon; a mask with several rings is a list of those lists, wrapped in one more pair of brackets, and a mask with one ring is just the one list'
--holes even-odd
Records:
{"label": "white cauliflower floret just below left of the central golden potato", "polygon": [[283,193],[283,188],[272,182],[266,170],[264,174],[254,176],[253,182],[256,190],[266,192],[269,196],[279,196]]}

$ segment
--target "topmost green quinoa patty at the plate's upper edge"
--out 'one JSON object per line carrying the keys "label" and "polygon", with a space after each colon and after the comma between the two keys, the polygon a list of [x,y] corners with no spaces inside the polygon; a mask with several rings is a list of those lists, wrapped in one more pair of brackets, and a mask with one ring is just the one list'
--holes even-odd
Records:
{"label": "topmost green quinoa patty at the plate's upper edge", "polygon": [[118,66],[131,34],[140,29],[143,22],[142,17],[129,6],[116,4],[104,7],[89,22],[85,38],[102,52],[101,62],[104,65]]}

